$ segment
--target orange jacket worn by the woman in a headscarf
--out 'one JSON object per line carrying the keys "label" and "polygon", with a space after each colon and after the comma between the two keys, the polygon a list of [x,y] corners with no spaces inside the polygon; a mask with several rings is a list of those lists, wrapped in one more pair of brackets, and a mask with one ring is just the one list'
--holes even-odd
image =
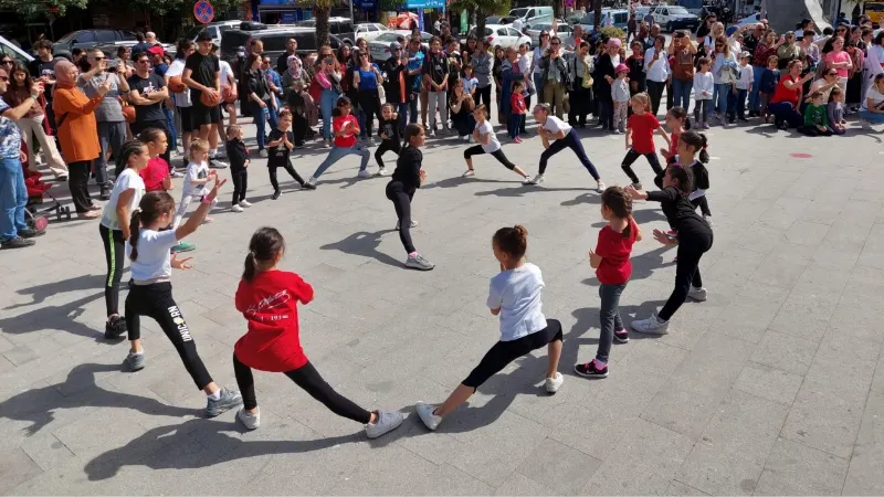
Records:
{"label": "orange jacket worn by the woman in a headscarf", "polygon": [[90,98],[77,88],[55,88],[52,108],[59,126],[62,157],[67,163],[97,159],[102,152],[98,145],[98,125],[95,107],[104,99],[102,95]]}

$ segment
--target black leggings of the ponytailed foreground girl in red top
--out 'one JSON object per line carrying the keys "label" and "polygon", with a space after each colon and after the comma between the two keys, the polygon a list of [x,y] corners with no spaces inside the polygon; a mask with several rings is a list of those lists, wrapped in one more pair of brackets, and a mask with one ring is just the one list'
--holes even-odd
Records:
{"label": "black leggings of the ponytailed foreground girl in red top", "polygon": [[[235,353],[233,355],[233,374],[236,376],[236,385],[240,388],[240,393],[242,394],[243,408],[246,410],[257,408],[255,380],[252,376],[252,369],[240,362]],[[370,412],[336,392],[335,389],[323,380],[319,371],[316,371],[316,368],[309,362],[298,369],[286,371],[284,374],[335,414],[362,424],[368,424],[371,420]]]}

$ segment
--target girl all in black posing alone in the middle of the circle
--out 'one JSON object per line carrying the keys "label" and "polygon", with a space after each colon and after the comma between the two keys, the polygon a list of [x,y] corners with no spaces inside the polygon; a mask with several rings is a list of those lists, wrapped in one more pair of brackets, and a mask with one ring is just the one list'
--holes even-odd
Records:
{"label": "girl all in black posing alone in the middle of the circle", "polygon": [[423,146],[424,139],[423,126],[418,124],[406,126],[406,146],[402,147],[402,151],[399,154],[399,160],[396,161],[396,170],[387,184],[387,198],[393,202],[396,216],[399,219],[396,223],[396,229],[399,230],[399,240],[408,253],[406,267],[430,271],[435,265],[418,253],[411,242],[410,232],[415,224],[411,221],[411,199],[414,198],[414,192],[421,188],[423,180],[427,178],[427,172],[421,169],[423,154],[418,150]]}

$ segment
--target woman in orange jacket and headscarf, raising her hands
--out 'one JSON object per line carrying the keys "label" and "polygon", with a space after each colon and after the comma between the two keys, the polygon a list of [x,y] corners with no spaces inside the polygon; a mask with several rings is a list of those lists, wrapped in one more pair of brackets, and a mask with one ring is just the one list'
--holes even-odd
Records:
{"label": "woman in orange jacket and headscarf, raising her hands", "polygon": [[69,61],[59,61],[55,64],[52,107],[55,110],[62,157],[67,162],[71,200],[78,218],[95,219],[101,215],[102,208],[92,203],[87,188],[92,161],[101,154],[95,107],[110,89],[110,81],[105,81],[98,86],[96,95],[88,98],[76,87],[78,74],[80,71]]}

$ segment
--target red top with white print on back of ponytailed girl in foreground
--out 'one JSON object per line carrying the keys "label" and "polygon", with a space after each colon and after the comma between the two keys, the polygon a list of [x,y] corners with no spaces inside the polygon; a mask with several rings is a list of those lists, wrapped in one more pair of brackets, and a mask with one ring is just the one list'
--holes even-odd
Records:
{"label": "red top with white print on back of ponytailed girl in foreground", "polygon": [[307,363],[301,348],[297,303],[313,300],[313,287],[295,273],[266,271],[236,288],[236,310],[249,321],[249,332],[233,351],[245,366],[283,372]]}

